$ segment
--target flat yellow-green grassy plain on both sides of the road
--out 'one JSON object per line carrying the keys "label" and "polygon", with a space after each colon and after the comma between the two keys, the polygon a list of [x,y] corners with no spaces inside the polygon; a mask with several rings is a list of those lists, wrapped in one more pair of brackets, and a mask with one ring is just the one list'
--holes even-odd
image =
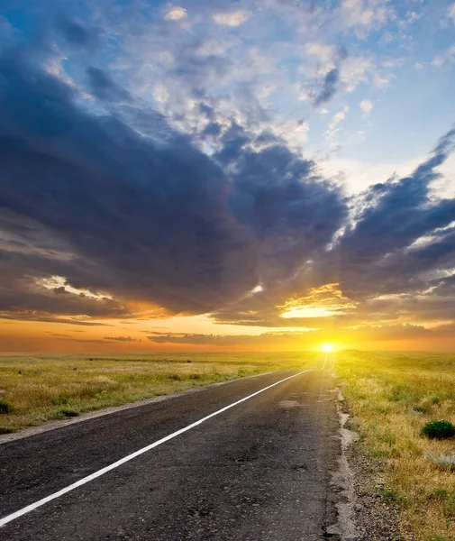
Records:
{"label": "flat yellow-green grassy plain on both sides of the road", "polygon": [[[341,351],[331,357],[350,425],[359,434],[356,452],[382,480],[378,499],[399,509],[402,538],[455,540],[455,440],[421,436],[432,419],[455,424],[455,354]],[[3,355],[0,432],[263,372],[322,365],[322,353]]]}

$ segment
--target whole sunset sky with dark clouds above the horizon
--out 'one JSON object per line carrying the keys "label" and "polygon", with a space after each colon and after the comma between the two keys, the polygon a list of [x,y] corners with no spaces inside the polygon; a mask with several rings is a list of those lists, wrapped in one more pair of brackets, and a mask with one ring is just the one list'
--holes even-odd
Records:
{"label": "whole sunset sky with dark clouds above the horizon", "polygon": [[455,350],[455,4],[3,0],[0,352]]}

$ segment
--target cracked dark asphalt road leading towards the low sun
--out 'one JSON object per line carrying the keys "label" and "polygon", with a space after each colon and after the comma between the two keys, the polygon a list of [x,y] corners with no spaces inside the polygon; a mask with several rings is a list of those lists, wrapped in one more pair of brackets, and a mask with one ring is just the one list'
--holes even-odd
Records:
{"label": "cracked dark asphalt road leading towards the low sun", "polygon": [[[232,381],[0,445],[0,518],[296,371]],[[308,371],[0,528],[8,541],[327,539],[336,394]]]}

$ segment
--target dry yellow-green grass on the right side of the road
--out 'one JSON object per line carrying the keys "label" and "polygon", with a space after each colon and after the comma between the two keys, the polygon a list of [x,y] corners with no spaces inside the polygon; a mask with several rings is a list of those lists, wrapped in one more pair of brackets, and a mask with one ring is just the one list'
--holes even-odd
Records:
{"label": "dry yellow-green grass on the right side of the road", "polygon": [[429,420],[455,423],[455,354],[341,352],[335,370],[362,449],[384,468],[382,497],[419,541],[455,540],[455,472],[432,460],[455,439],[420,435]]}

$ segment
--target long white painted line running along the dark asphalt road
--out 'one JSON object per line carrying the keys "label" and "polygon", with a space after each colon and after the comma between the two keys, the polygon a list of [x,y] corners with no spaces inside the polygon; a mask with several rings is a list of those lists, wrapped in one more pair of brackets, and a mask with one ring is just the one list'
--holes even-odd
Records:
{"label": "long white painted line running along the dark asphalt road", "polygon": [[93,481],[97,477],[101,477],[101,475],[104,475],[107,472],[110,472],[111,470],[114,470],[115,468],[118,468],[124,463],[129,462],[133,458],[136,458],[136,456],[139,456],[140,454],[147,453],[147,451],[150,451],[150,449],[153,449],[155,447],[158,447],[161,444],[164,444],[168,442],[169,440],[173,439],[174,437],[180,436],[184,432],[187,432],[188,430],[191,430],[192,428],[195,428],[196,426],[201,425],[202,423],[205,423],[208,419],[215,417],[217,415],[220,415],[220,413],[223,413],[223,411],[226,411],[227,409],[231,409],[234,406],[237,406],[238,404],[241,404],[241,402],[244,402],[245,400],[252,399],[256,395],[259,395],[259,393],[264,392],[265,390],[271,389],[272,387],[275,387],[276,385],[279,385],[279,383],[283,383],[283,381],[290,380],[291,378],[296,378],[296,376],[300,376],[301,374],[305,374],[305,372],[311,371],[304,370],[301,372],[298,372],[297,374],[294,374],[293,376],[288,376],[284,380],[277,381],[275,383],[272,383],[271,385],[268,385],[268,387],[264,387],[264,389],[257,390],[256,392],[253,392],[248,397],[245,397],[244,399],[237,400],[237,402],[233,402],[229,406],[225,406],[224,408],[218,409],[217,411],[214,411],[214,413],[211,413],[210,415],[207,415],[206,417],[203,417],[202,419],[199,419],[195,423],[192,423],[191,425],[185,426],[185,428],[180,428],[180,430],[177,430],[177,432],[173,432],[172,434],[169,434],[168,436],[162,437],[160,440],[154,442],[153,444],[147,445],[146,447],[142,447],[139,449],[139,451],[135,451],[132,454],[128,454],[128,456],[124,456],[117,462],[114,462],[112,464],[109,464],[108,466],[105,466],[105,468],[102,468],[101,470],[98,470],[95,473],[91,473],[90,475],[87,475],[83,479],[79,479],[79,481],[73,482],[73,484],[68,485],[68,487],[65,487],[64,489],[61,489],[61,491],[54,492],[53,494],[50,494],[50,496],[46,496],[46,498],[42,498],[42,500],[35,501],[34,503],[24,507],[23,509],[19,509],[18,511],[15,511],[15,513],[12,513],[11,515],[7,515],[4,518],[0,518],[0,527],[4,527],[5,524],[8,524],[8,522],[11,522],[12,520],[15,520],[16,518],[22,517],[23,515],[26,515],[27,513],[30,513],[30,511],[34,509],[38,509],[41,507],[41,505],[44,505],[45,503],[48,503],[49,501],[56,500],[60,496],[63,496],[64,494],[67,494],[70,491],[74,491],[78,487],[86,484],[87,482]]}

